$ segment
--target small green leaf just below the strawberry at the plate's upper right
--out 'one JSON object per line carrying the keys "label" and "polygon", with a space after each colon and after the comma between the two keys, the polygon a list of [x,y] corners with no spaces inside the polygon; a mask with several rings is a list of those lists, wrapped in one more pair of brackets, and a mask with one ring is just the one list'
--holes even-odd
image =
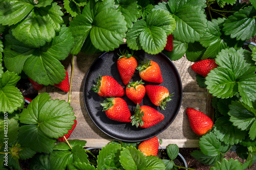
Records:
{"label": "small green leaf just below the strawberry at the plate's upper right", "polygon": [[173,51],[168,52],[163,50],[163,54],[165,54],[170,60],[175,61],[181,59],[188,48],[188,44],[185,42],[177,41],[175,38],[173,40],[174,48]]}

